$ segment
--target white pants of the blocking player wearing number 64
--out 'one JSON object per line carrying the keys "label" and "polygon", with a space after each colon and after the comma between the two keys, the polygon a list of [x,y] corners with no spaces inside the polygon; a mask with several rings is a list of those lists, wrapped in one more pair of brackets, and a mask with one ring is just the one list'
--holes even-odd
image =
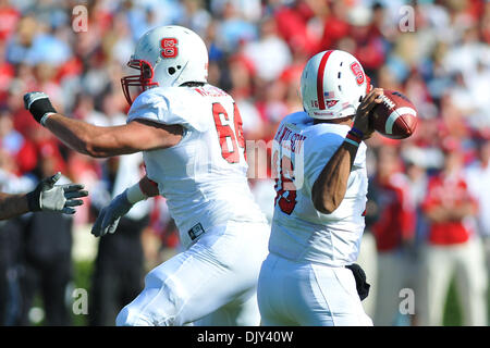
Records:
{"label": "white pants of the blocking player wearing number 64", "polygon": [[144,290],[117,325],[259,325],[256,289],[270,226],[230,222],[207,231],[187,250],[145,278]]}

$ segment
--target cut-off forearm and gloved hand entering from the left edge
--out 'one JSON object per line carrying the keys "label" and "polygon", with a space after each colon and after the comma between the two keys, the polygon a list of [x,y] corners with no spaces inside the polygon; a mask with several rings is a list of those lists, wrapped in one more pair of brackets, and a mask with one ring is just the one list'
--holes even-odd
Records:
{"label": "cut-off forearm and gloved hand entering from the left edge", "polygon": [[0,191],[0,220],[8,220],[27,212],[58,211],[74,214],[73,207],[82,206],[82,197],[88,192],[79,184],[54,185],[61,173],[44,178],[36,188],[25,195],[10,195]]}

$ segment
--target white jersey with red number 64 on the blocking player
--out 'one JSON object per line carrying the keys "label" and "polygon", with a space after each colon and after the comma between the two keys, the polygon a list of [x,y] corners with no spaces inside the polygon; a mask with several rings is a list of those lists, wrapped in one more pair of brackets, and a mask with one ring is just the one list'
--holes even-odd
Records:
{"label": "white jersey with red number 64 on the blocking player", "polygon": [[176,146],[143,154],[184,247],[229,221],[266,221],[248,186],[242,120],[231,96],[210,85],[151,88],[131,107],[127,122],[136,119],[184,127]]}

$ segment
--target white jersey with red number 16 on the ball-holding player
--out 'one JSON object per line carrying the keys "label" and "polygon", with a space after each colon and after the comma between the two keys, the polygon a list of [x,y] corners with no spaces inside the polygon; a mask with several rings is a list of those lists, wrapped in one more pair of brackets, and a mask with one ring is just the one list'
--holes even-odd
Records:
{"label": "white jersey with red number 16 on the ball-holding player", "polygon": [[322,214],[311,200],[311,187],[350,129],[346,125],[314,124],[305,112],[290,114],[279,125],[272,151],[278,196],[269,240],[271,253],[331,266],[357,259],[368,185],[364,142],[339,208]]}

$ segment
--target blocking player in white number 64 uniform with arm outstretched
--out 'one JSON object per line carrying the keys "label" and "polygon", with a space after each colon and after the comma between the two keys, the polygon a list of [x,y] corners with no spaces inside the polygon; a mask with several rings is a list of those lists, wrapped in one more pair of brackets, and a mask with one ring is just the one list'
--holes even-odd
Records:
{"label": "blocking player in white number 64 uniform with arm outstretched", "polygon": [[[157,195],[179,227],[185,250],[149,272],[118,325],[260,323],[256,287],[270,228],[248,187],[238,109],[207,84],[207,64],[206,46],[192,30],[146,33],[128,63],[139,74],[122,79],[132,107],[120,127],[57,114],[44,94],[25,97],[36,120],[77,151],[143,151],[147,175],[102,209],[94,235],[113,233],[134,203]],[[132,86],[143,87],[134,101]]]}

